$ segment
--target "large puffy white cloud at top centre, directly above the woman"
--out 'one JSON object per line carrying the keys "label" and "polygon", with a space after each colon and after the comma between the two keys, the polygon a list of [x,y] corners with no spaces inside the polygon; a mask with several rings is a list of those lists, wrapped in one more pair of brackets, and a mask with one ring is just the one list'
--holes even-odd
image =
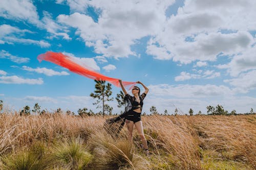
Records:
{"label": "large puffy white cloud at top centre, directly above the woman", "polygon": [[[105,57],[137,55],[131,45],[137,39],[155,35],[165,22],[165,10],[174,1],[67,1],[71,11],[84,11],[92,6],[100,15],[98,22],[80,13],[59,15],[58,21],[77,29],[76,34]],[[116,8],[118,7],[118,8]],[[83,22],[80,22],[83,20]],[[120,31],[121,30],[121,31]],[[131,34],[132,33],[132,34]]]}

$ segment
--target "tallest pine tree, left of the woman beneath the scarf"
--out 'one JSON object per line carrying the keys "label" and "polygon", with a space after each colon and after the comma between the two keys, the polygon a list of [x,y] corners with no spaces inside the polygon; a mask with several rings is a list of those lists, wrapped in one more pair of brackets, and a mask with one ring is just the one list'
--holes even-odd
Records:
{"label": "tallest pine tree, left of the woman beneath the scarf", "polygon": [[106,101],[113,101],[113,98],[110,98],[110,95],[112,94],[112,87],[111,84],[108,83],[105,85],[105,81],[100,80],[94,80],[96,82],[95,84],[95,93],[91,93],[90,96],[94,99],[97,99],[93,105],[98,105],[100,102],[102,102],[102,105],[98,105],[96,108],[102,108],[102,115],[105,115],[105,110],[108,110],[109,108],[105,108],[105,102]]}

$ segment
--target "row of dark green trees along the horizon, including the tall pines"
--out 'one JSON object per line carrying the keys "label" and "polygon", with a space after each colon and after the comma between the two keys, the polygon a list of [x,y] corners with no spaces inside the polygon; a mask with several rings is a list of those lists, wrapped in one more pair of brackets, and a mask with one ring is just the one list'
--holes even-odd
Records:
{"label": "row of dark green trees along the horizon, including the tall pines", "polygon": [[[102,109],[101,111],[97,112],[97,113],[94,113],[91,109],[88,110],[88,108],[84,107],[84,108],[79,108],[77,110],[77,113],[79,116],[93,116],[93,115],[102,115],[104,116],[105,114],[108,114],[108,115],[117,115],[117,113],[113,114],[112,111],[113,111],[113,107],[109,106],[106,102],[109,102],[109,101],[113,101],[113,98],[111,98],[111,95],[112,95],[112,87],[111,87],[111,84],[110,83],[107,83],[105,84],[105,81],[100,81],[100,80],[95,80],[95,90],[94,90],[94,93],[91,93],[90,96],[93,98],[93,99],[96,99],[96,102],[93,103],[93,105],[97,105],[96,108],[100,108]],[[118,93],[116,95],[116,101],[118,103],[117,107],[121,108],[124,106],[124,93],[122,91],[120,91],[120,93]],[[3,110],[3,101],[0,100],[0,112],[2,112]],[[207,110],[207,114],[204,114],[204,115],[238,115],[237,111],[236,110],[232,110],[230,113],[225,110],[223,108],[223,106],[221,105],[217,105],[216,107],[214,106],[207,106],[206,107],[206,110]],[[43,115],[43,114],[46,114],[47,113],[47,110],[41,110],[41,107],[38,105],[38,103],[36,103],[33,107],[33,110],[31,111],[30,110],[30,107],[29,106],[25,106],[23,108],[23,110],[21,110],[19,112],[20,115],[30,115],[30,114],[39,114],[39,115]],[[122,114],[123,111],[120,112],[120,114]],[[67,110],[66,112],[65,111],[62,111],[61,108],[58,108],[56,111],[55,111],[55,114],[67,114],[67,115],[75,115],[74,112],[70,111],[70,110]],[[189,109],[188,110],[188,114],[182,112],[179,108],[175,108],[175,111],[174,113],[170,112],[168,113],[168,111],[165,109],[163,113],[159,113],[156,109],[155,106],[151,106],[150,107],[150,114],[148,115],[157,115],[157,114],[160,114],[160,115],[202,115],[202,112],[199,111],[197,114],[194,114],[194,110],[193,109]],[[241,114],[241,113],[239,113]],[[250,112],[247,112],[247,113],[243,113],[243,114],[255,114],[253,109],[251,108]],[[145,112],[142,113],[142,115],[146,115]]]}

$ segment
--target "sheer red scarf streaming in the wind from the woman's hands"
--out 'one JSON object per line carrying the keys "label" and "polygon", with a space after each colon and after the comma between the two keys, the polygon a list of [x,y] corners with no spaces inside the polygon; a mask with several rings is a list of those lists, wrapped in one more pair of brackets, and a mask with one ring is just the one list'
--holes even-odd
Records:
{"label": "sheer red scarf streaming in the wind from the woman's hands", "polygon": [[[81,66],[77,63],[77,61],[73,57],[63,55],[62,53],[46,52],[45,54],[38,55],[37,60],[39,62],[41,62],[42,60],[49,61],[59,66],[68,68],[70,71],[75,72],[78,75],[88,77],[94,80],[108,81],[117,87],[121,87],[119,83],[119,79],[106,77],[100,74],[99,72],[93,71],[90,68]],[[129,89],[131,90],[136,85],[136,82],[122,81],[122,84],[125,87],[126,86],[130,87]]]}

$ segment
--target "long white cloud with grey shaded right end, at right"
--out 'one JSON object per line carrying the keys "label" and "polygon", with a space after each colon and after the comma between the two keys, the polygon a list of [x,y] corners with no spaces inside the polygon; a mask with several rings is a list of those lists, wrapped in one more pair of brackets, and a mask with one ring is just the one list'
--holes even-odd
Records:
{"label": "long white cloud with grey shaded right end, at right", "polygon": [[[172,35],[172,33],[170,33]],[[171,38],[168,33],[161,37],[160,45],[166,47],[166,51],[173,54],[174,61],[190,63],[195,60],[216,61],[217,55],[233,55],[244,52],[254,43],[253,37],[248,32],[237,32],[230,34],[200,33],[195,41],[188,42],[185,38]],[[177,37],[177,36],[176,36]],[[152,43],[157,43],[154,39]],[[148,45],[150,46],[150,45]],[[161,57],[161,55],[159,55]]]}

